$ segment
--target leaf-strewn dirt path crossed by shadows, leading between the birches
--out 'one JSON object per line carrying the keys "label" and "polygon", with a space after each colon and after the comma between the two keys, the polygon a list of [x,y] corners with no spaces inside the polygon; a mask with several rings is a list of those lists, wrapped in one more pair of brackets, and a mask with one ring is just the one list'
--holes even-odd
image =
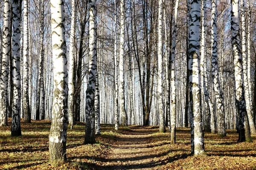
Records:
{"label": "leaf-strewn dirt path crossed by shadows, leading between the birches", "polygon": [[[107,169],[152,170],[166,160],[167,153],[159,152],[159,145],[151,144],[156,127],[132,126],[122,131],[106,158]],[[164,143],[166,144],[166,143]]]}

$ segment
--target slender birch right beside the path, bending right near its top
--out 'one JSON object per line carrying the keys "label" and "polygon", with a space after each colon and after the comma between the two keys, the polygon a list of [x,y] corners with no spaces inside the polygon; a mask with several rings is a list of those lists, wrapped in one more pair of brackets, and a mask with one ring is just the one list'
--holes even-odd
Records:
{"label": "slender birch right beside the path, bending right near its top", "polygon": [[175,86],[175,53],[176,53],[176,34],[177,34],[177,17],[180,0],[176,0],[174,10],[174,27],[172,31],[172,68],[171,68],[171,84],[172,84],[172,101],[171,101],[171,144],[176,143],[176,86]]}

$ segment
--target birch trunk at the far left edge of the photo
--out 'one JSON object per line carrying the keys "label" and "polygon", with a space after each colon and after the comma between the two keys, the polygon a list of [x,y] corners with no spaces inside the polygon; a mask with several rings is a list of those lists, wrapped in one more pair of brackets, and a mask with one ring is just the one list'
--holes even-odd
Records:
{"label": "birch trunk at the far left edge of the photo", "polygon": [[8,77],[9,58],[11,46],[11,6],[10,1],[4,1],[4,21],[3,21],[3,51],[2,68],[0,81],[0,126],[7,126],[8,113]]}

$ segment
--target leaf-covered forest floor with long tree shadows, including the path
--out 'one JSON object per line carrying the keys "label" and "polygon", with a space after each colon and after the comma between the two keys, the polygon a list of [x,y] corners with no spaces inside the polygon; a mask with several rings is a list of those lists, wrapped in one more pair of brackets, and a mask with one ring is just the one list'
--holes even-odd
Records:
{"label": "leaf-covered forest floor with long tree shadows, including the path", "polygon": [[[10,125],[10,119],[9,119]],[[204,133],[205,156],[190,154],[190,130],[177,128],[176,144],[170,133],[157,126],[102,125],[96,144],[84,145],[84,123],[67,133],[67,162],[49,163],[50,121],[21,123],[22,136],[11,137],[10,126],[0,127],[0,169],[29,170],[253,170],[256,169],[256,136],[253,143],[236,143],[238,134],[227,137]]]}

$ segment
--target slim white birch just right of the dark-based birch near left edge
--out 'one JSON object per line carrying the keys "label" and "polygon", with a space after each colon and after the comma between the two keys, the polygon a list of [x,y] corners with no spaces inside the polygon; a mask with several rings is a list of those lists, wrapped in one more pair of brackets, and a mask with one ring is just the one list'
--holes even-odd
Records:
{"label": "slim white birch just right of the dark-based birch near left edge", "polygon": [[23,115],[24,122],[31,122],[31,113],[29,105],[29,14],[28,14],[28,0],[24,0],[23,8]]}

